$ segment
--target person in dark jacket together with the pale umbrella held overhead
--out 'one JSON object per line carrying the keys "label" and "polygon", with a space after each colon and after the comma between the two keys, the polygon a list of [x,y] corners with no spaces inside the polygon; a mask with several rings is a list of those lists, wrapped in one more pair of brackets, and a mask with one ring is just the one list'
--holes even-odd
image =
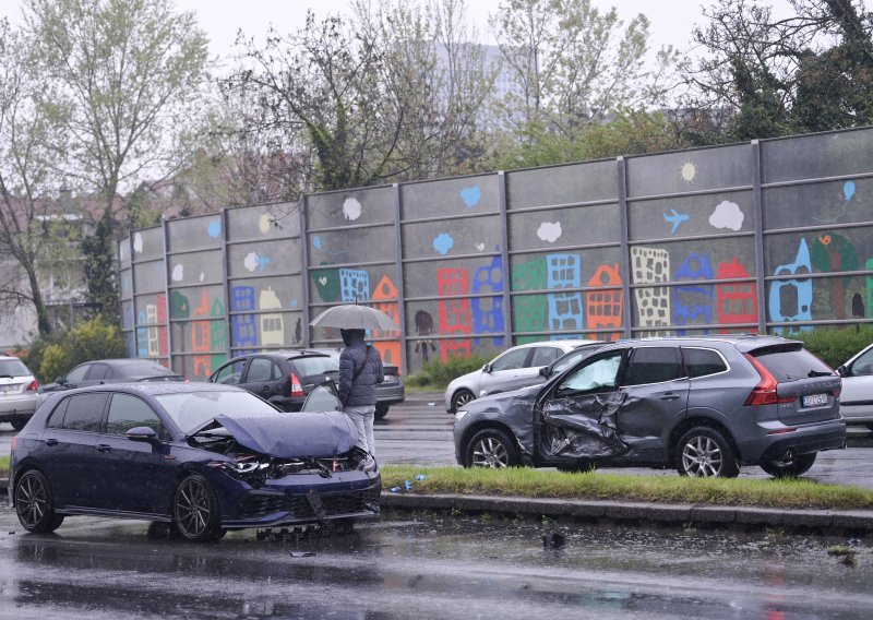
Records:
{"label": "person in dark jacket together with the pale umbrella held overhead", "polygon": [[340,329],[346,348],[339,354],[339,401],[343,412],[358,429],[358,445],[375,456],[375,386],[385,380],[385,371],[379,350],[363,338],[367,330],[397,331],[397,324],[381,310],[359,306],[357,301],[327,308],[309,324]]}

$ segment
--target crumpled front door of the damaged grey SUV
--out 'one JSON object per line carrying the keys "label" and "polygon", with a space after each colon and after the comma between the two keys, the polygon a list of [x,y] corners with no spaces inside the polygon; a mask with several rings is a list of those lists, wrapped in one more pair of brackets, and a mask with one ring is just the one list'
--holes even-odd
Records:
{"label": "crumpled front door of the damaged grey SUV", "polygon": [[609,392],[546,403],[540,437],[542,454],[585,458],[627,452],[629,446],[615,426],[625,395],[626,392]]}

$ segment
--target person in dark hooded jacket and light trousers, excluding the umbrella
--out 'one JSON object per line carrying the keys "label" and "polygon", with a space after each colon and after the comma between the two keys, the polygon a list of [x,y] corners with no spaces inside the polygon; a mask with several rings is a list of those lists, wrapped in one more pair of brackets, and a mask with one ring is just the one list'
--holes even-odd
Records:
{"label": "person in dark hooded jacket and light trousers, excluding the umbrella", "polygon": [[339,330],[346,348],[339,354],[339,401],[358,429],[358,446],[375,457],[375,386],[385,380],[379,349],[364,343],[364,330]]}

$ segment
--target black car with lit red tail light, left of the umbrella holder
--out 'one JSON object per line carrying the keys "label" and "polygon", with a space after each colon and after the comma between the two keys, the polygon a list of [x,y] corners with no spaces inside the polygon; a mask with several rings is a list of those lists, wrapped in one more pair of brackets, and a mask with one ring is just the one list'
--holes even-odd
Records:
{"label": "black car with lit red tail light, left of the umbrella holder", "polygon": [[299,412],[319,384],[339,378],[339,365],[313,349],[240,355],[213,372],[207,381],[239,385],[283,412]]}

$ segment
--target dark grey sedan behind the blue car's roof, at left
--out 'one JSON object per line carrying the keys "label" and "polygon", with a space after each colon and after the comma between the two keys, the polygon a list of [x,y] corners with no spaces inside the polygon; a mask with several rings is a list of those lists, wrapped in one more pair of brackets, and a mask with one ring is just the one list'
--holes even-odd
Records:
{"label": "dark grey sedan behind the blue car's roof, at left", "polygon": [[68,373],[58,377],[53,383],[43,385],[39,392],[61,392],[104,383],[139,381],[186,381],[186,378],[153,359],[95,359],[73,367]]}

